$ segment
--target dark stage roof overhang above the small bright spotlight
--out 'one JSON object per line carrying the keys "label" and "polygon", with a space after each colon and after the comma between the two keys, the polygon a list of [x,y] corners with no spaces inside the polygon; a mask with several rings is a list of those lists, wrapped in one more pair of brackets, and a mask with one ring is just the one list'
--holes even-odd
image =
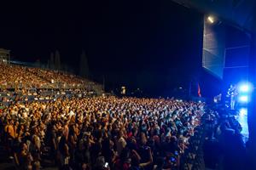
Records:
{"label": "dark stage roof overhang above the small bright spotlight", "polygon": [[[256,14],[255,0],[172,0],[187,8],[195,8],[204,14],[213,14],[220,20],[247,31],[255,31],[253,15]],[[254,10],[253,10],[254,9]],[[255,16],[254,16],[255,17]],[[254,27],[254,28],[253,28]]]}

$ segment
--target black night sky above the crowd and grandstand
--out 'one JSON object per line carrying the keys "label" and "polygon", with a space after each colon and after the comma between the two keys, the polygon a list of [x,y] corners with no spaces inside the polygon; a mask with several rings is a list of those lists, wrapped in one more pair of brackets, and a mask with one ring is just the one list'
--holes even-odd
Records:
{"label": "black night sky above the crowd and grandstand", "polygon": [[61,61],[78,71],[85,50],[91,77],[156,94],[187,86],[201,67],[203,17],[169,0],[2,4],[0,47],[15,59]]}

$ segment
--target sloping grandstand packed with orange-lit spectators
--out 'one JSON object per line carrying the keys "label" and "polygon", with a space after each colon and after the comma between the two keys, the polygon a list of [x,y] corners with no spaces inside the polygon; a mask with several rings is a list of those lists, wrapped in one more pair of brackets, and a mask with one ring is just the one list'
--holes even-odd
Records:
{"label": "sloping grandstand packed with orange-lit spectators", "polygon": [[[49,94],[86,91],[102,95],[102,85],[62,71],[0,63],[0,99],[6,104],[19,99],[49,99]],[[82,95],[82,94],[80,94]],[[48,97],[47,97],[48,96]]]}

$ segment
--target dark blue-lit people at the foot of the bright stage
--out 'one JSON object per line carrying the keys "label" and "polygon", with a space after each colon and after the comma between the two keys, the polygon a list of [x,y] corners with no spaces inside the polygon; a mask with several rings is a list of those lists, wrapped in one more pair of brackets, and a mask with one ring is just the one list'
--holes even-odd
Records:
{"label": "dark blue-lit people at the foot of the bright stage", "polygon": [[203,116],[206,126],[204,162],[209,169],[249,169],[247,150],[241,124],[226,110],[207,110]]}

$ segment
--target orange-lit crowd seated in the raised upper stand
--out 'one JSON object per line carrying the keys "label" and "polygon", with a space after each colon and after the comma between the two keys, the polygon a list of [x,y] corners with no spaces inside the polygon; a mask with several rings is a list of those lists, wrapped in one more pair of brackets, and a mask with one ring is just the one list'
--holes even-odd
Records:
{"label": "orange-lit crowd seated in the raised upper stand", "polygon": [[0,62],[0,88],[90,88],[95,82],[61,71]]}

